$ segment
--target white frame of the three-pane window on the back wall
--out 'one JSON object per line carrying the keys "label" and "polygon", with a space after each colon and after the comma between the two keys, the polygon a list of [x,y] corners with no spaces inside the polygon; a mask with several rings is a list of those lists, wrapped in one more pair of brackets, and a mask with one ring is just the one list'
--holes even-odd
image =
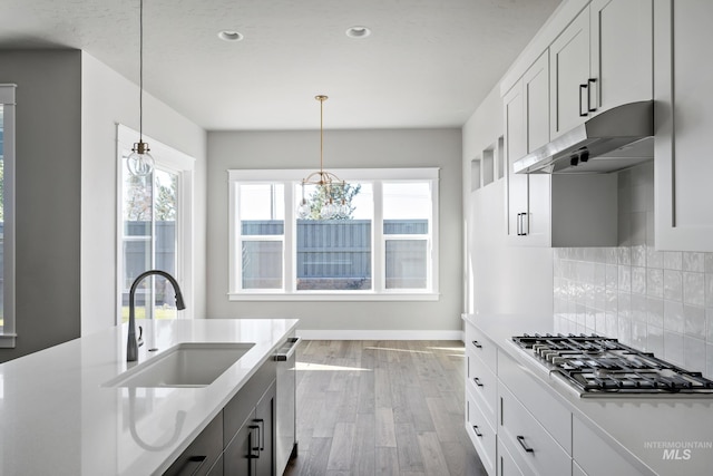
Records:
{"label": "white frame of the three-pane window on the back wall", "polygon": [[[340,178],[349,182],[371,183],[373,185],[374,213],[371,226],[372,240],[372,289],[350,291],[297,291],[295,286],[296,273],[296,203],[297,196],[293,191],[310,169],[228,169],[228,289],[229,301],[438,301],[439,299],[439,168],[341,168],[330,169]],[[430,260],[427,262],[427,289],[385,289],[385,240],[383,233],[383,202],[381,184],[384,182],[428,181],[431,185],[431,233]],[[282,289],[248,289],[242,290],[241,266],[242,256],[240,217],[237,206],[237,187],[242,183],[284,183],[285,184],[285,216],[283,235],[283,288]],[[400,236],[400,235],[399,235]],[[411,235],[422,236],[422,235]]]}

